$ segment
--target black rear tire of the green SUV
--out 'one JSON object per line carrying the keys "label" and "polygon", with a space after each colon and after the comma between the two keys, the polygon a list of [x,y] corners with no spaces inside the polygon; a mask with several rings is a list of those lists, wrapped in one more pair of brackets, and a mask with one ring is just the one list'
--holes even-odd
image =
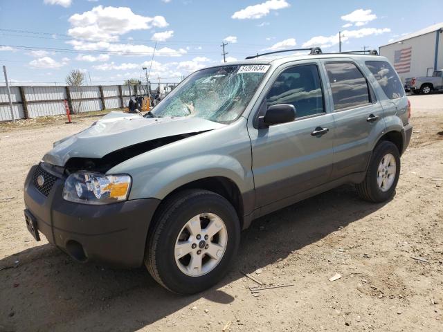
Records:
{"label": "black rear tire of the green SUV", "polygon": [[[380,169],[387,169],[388,172],[392,172],[392,163],[389,163],[388,167],[381,167],[381,163],[386,163],[391,156],[392,162],[395,162],[395,174],[388,174],[386,172],[380,172]],[[385,159],[383,159],[385,158]],[[381,168],[379,168],[381,167]],[[362,183],[356,185],[356,190],[359,196],[365,201],[374,203],[381,203],[387,201],[395,194],[395,187],[399,181],[400,174],[400,154],[397,146],[389,141],[380,142],[372,151],[368,171],[366,172],[365,180]],[[384,175],[382,179],[386,178],[386,182],[379,185],[380,176]]]}

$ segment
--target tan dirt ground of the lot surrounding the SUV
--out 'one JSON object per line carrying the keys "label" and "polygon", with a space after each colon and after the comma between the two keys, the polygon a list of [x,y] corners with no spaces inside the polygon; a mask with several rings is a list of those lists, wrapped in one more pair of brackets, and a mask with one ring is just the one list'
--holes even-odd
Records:
{"label": "tan dirt ground of the lot surrounding the SUV", "polygon": [[[265,216],[242,232],[228,276],[187,297],[145,268],[78,264],[26,230],[28,169],[96,118],[0,125],[0,331],[443,331],[443,95],[410,100],[392,201],[343,186]],[[293,286],[255,297],[240,270]]]}

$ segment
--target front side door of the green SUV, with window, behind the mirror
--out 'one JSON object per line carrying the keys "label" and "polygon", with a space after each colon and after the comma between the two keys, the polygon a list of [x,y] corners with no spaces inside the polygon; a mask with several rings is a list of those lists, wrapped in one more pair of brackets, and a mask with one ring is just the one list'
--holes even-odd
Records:
{"label": "front side door of the green SUV, with window, behind the mirror", "polygon": [[[312,60],[278,68],[249,118],[257,208],[329,181],[334,120],[326,111],[325,77],[319,67],[320,62]],[[273,104],[293,104],[296,119],[257,129],[254,120]]]}

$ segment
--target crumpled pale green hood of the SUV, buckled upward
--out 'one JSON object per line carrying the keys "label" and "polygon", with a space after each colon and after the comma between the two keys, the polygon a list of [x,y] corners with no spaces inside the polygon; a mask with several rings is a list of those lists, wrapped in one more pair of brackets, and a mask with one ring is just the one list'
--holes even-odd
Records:
{"label": "crumpled pale green hood of the SUV, buckled upward", "polygon": [[112,151],[156,138],[208,131],[226,126],[201,118],[143,118],[111,112],[95,125],[54,143],[43,160],[64,166],[69,158],[102,158]]}

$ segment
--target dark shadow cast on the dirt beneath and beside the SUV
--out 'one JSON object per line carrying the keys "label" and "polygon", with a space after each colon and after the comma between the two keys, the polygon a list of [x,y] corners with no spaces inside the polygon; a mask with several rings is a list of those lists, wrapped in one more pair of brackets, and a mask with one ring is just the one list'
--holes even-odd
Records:
{"label": "dark shadow cast on the dirt beneath and beside the SUV", "polygon": [[[221,288],[257,268],[358,221],[383,204],[356,197],[343,186],[257,219],[242,232],[238,259],[217,286],[192,296],[174,295],[145,268],[112,270],[78,264],[51,245],[24,250],[0,261],[0,326],[13,331],[136,331],[204,297],[229,304]],[[116,243],[118,246],[118,243]]]}

